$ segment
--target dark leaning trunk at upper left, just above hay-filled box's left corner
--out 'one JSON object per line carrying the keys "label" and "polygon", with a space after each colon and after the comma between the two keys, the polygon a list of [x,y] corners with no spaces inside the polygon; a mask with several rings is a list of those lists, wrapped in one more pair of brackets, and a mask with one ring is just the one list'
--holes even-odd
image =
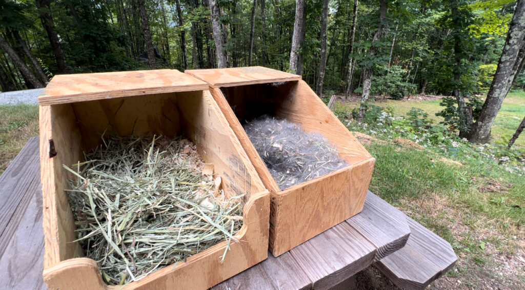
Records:
{"label": "dark leaning trunk at upper left, just above hay-filled box's left corner", "polygon": [[36,6],[39,8],[40,22],[46,30],[47,37],[49,38],[49,44],[51,46],[51,51],[55,56],[57,61],[57,67],[59,73],[68,73],[66,57],[64,56],[64,51],[60,46],[60,41],[58,40],[58,35],[55,32],[55,24],[53,22],[53,16],[51,16],[51,5],[50,0],[36,0]]}

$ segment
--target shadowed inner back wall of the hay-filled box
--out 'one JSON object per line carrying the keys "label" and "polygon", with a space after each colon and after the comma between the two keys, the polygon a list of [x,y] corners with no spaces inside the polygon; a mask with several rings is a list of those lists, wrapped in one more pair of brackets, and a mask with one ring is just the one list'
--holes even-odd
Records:
{"label": "shadowed inner back wall of the hay-filled box", "polygon": [[79,102],[72,106],[85,151],[101,144],[102,134],[173,137],[181,132],[175,93]]}

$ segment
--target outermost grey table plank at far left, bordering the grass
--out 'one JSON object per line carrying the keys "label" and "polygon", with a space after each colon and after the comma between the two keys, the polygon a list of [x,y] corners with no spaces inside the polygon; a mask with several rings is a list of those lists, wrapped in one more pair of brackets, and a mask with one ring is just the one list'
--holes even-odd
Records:
{"label": "outermost grey table plank at far left, bordering the grass", "polygon": [[[32,165],[32,166],[31,166]],[[0,176],[0,237],[9,235],[4,233],[7,224],[13,217],[20,201],[24,198],[31,181],[39,172],[38,165],[38,138],[33,137],[22,148],[9,167]],[[4,251],[0,242],[0,256]]]}

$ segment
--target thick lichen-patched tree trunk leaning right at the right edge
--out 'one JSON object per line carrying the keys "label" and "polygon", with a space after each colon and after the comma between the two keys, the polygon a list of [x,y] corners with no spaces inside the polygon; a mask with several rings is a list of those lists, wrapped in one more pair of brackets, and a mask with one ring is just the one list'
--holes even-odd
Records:
{"label": "thick lichen-patched tree trunk leaning right at the right edge", "polygon": [[507,96],[512,83],[523,66],[525,57],[525,0],[519,0],[509,26],[507,40],[499,59],[498,68],[490,84],[487,99],[483,104],[476,123],[472,125],[469,141],[487,143],[490,139],[490,128],[501,109],[503,99]]}

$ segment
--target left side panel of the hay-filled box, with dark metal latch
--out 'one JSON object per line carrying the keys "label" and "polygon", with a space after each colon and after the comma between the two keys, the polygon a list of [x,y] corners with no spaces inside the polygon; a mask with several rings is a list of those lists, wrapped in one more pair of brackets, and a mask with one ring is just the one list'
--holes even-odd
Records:
{"label": "left side panel of the hay-filled box, with dark metal latch", "polygon": [[64,189],[70,178],[62,164],[81,160],[80,132],[69,104],[40,106],[40,178],[43,198],[44,268],[82,256]]}

